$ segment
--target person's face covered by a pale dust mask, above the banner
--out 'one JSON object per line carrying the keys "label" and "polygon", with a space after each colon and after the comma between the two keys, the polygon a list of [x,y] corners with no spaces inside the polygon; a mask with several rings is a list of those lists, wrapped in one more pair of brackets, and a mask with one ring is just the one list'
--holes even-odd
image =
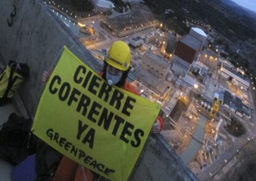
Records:
{"label": "person's face covered by a pale dust mask, above the banner", "polygon": [[122,70],[116,69],[111,65],[107,65],[106,67],[106,81],[109,85],[115,85],[121,80],[122,77]]}

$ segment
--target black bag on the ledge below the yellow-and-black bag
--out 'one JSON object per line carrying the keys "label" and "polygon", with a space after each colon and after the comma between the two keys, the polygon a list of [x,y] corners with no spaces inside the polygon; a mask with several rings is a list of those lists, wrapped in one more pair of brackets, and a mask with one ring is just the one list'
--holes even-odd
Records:
{"label": "black bag on the ledge below the yellow-and-black bag", "polygon": [[13,166],[36,152],[36,137],[31,137],[32,119],[19,117],[15,113],[0,129],[0,158]]}

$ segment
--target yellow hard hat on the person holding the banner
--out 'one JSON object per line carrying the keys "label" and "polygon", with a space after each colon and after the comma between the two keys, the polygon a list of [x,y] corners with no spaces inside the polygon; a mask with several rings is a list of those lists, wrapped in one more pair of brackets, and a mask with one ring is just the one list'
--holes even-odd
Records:
{"label": "yellow hard hat on the person holding the banner", "polygon": [[116,69],[126,71],[130,67],[130,48],[124,41],[115,41],[108,50],[106,62]]}

